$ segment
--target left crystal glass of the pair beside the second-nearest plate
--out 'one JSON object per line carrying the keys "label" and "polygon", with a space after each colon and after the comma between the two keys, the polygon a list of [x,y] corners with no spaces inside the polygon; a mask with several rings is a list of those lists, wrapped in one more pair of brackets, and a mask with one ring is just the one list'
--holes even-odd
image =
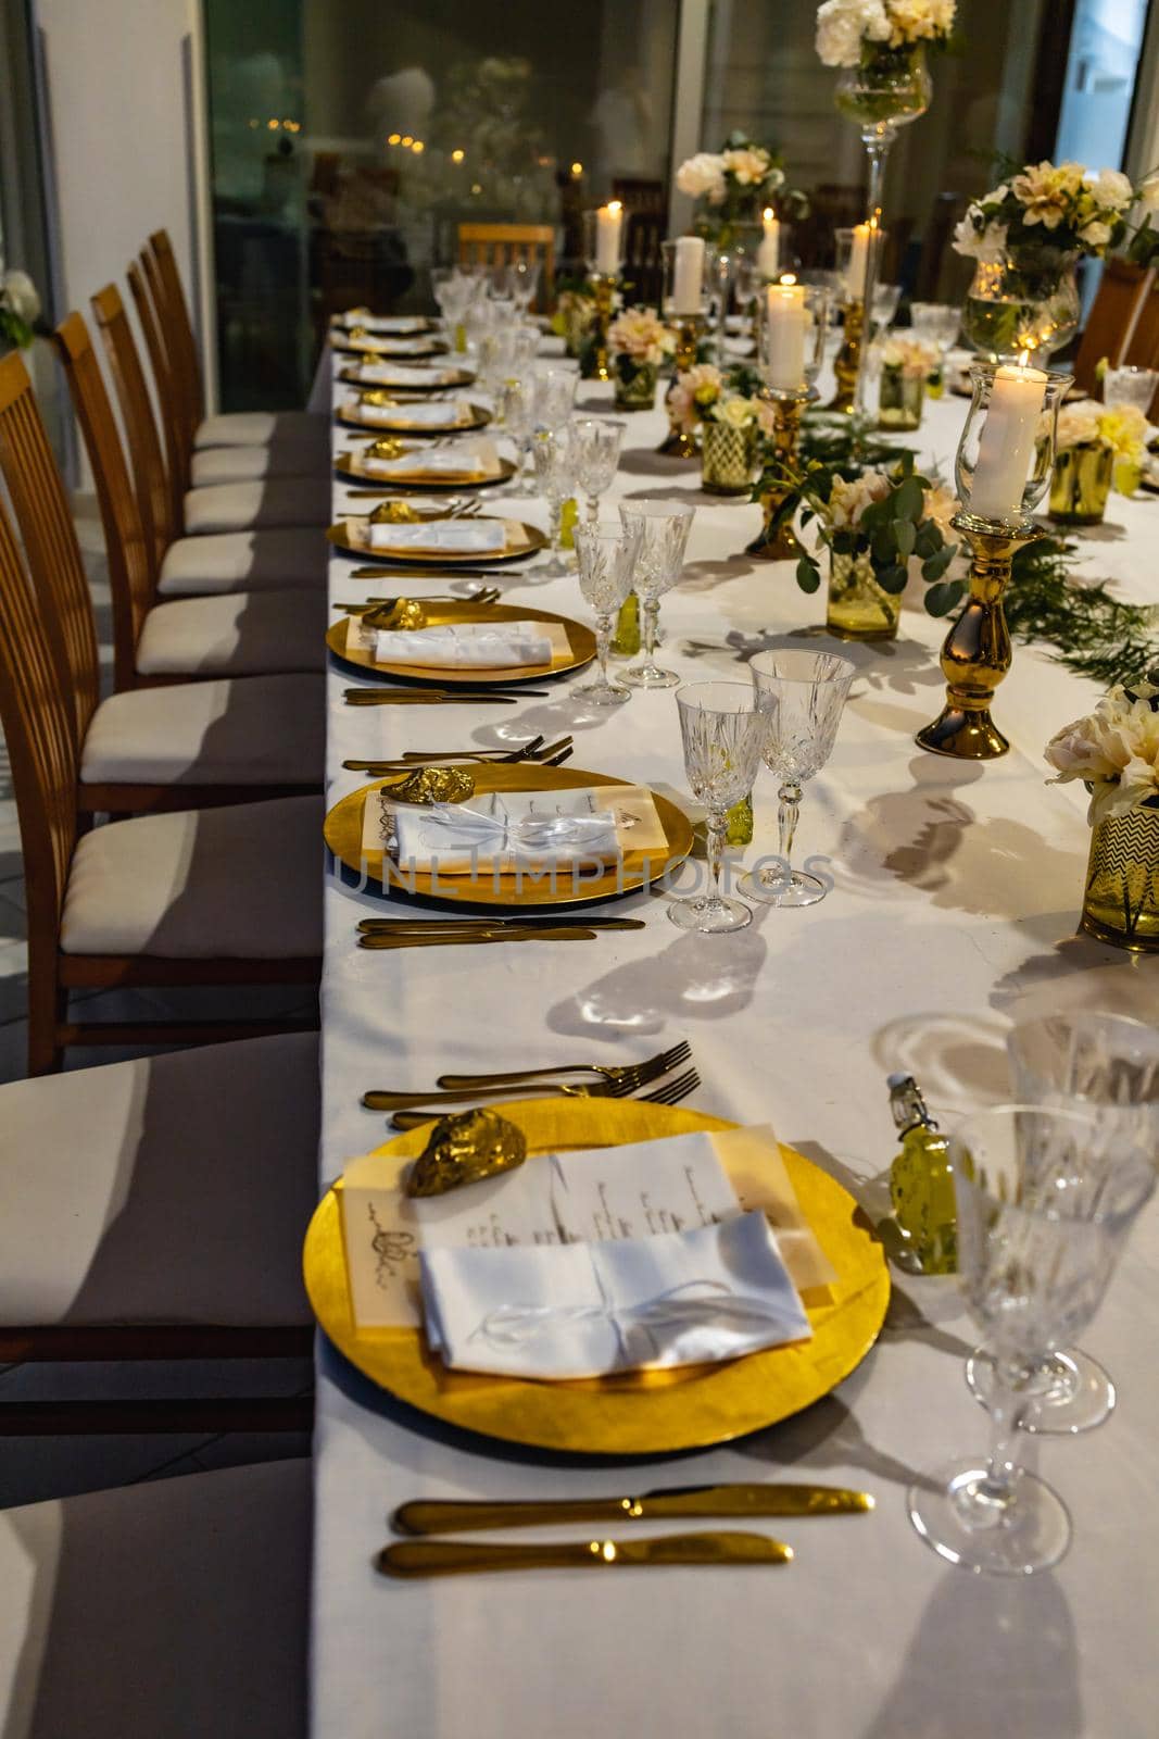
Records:
{"label": "left crystal glass of the pair beside the second-nearest plate", "polygon": [[674,899],[667,915],[681,930],[742,930],[752,923],[752,913],[721,894],[721,854],[728,810],[752,790],[766,720],[744,682],[690,682],[678,690],[676,706],[688,784],[707,810],[711,887],[707,894]]}

